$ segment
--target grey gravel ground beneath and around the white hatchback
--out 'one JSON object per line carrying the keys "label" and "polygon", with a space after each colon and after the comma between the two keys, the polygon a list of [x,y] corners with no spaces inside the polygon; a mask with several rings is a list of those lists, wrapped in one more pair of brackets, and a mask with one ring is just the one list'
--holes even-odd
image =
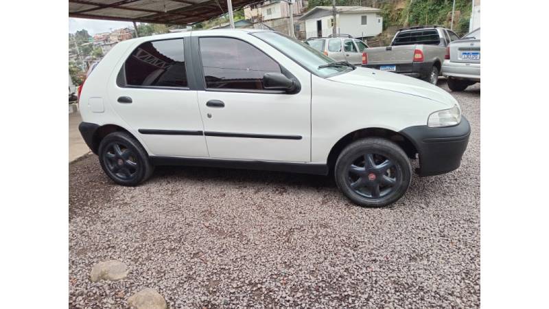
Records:
{"label": "grey gravel ground beneath and around the white hatchback", "polygon": [[[480,306],[480,85],[452,94],[472,130],[461,168],[383,209],[324,176],[157,168],[121,187],[93,155],[72,163],[69,306],[126,308],[141,288],[170,308]],[[112,259],[128,277],[92,283]]]}

